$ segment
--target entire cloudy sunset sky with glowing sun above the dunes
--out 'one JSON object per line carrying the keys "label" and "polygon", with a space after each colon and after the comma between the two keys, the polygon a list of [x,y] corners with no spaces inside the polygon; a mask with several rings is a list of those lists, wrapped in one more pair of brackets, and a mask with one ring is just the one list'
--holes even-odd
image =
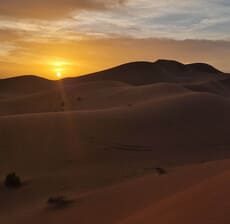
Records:
{"label": "entire cloudy sunset sky with glowing sun above the dunes", "polygon": [[0,78],[157,59],[230,72],[229,12],[229,0],[0,1]]}

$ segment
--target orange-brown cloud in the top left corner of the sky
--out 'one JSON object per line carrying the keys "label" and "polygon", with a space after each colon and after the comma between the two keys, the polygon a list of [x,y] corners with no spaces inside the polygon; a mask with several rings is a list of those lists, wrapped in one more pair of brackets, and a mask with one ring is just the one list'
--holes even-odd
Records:
{"label": "orange-brown cloud in the top left corner of the sky", "polygon": [[13,18],[56,19],[78,10],[101,10],[124,0],[9,0],[0,2],[0,15]]}

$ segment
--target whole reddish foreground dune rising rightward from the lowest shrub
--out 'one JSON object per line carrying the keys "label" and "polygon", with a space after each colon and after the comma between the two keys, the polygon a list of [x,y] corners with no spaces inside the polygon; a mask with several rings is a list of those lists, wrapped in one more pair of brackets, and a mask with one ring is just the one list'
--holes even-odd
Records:
{"label": "whole reddish foreground dune rising rightward from the lowest shrub", "polygon": [[228,223],[224,198],[229,197],[229,168],[229,160],[189,165],[165,176],[151,174],[84,194],[69,193],[76,204],[64,210],[50,210],[45,200],[38,200],[12,223]]}

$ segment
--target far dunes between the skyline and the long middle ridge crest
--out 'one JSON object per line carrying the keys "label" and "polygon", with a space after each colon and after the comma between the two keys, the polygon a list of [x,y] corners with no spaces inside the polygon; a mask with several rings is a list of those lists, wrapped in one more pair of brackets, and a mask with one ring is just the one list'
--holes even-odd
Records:
{"label": "far dunes between the skyline and the long middle ridge crest", "polygon": [[35,76],[0,80],[0,115],[131,106],[185,91],[226,96],[230,87],[226,74],[207,64],[133,62],[61,81]]}

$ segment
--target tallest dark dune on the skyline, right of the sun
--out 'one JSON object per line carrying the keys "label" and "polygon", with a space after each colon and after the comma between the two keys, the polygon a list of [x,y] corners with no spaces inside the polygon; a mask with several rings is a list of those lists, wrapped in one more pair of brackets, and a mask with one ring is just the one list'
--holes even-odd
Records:
{"label": "tallest dark dune on the skyline, right of the sun", "polygon": [[158,60],[153,63],[132,62],[78,79],[66,79],[65,82],[113,80],[146,85],[157,82],[198,82],[222,78],[224,74],[208,64],[184,65],[177,61]]}

